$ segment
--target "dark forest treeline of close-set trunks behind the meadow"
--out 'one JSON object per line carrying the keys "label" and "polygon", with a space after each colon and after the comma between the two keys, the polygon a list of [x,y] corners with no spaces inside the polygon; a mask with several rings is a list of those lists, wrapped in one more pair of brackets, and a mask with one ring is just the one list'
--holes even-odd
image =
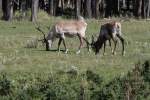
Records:
{"label": "dark forest treeline of close-set trunks behind the meadow", "polygon": [[31,20],[37,18],[38,9],[51,16],[150,17],[150,0],[0,0],[4,20],[12,20],[16,11],[22,16],[31,10]]}

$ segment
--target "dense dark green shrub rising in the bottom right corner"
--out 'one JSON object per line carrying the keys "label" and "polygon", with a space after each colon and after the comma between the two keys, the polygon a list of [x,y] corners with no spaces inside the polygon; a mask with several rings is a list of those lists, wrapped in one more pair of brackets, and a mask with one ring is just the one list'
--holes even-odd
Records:
{"label": "dense dark green shrub rising in the bottom right corner", "polygon": [[143,65],[138,63],[125,77],[115,78],[102,89],[93,91],[91,98],[94,100],[145,100],[150,95],[149,79],[149,61]]}

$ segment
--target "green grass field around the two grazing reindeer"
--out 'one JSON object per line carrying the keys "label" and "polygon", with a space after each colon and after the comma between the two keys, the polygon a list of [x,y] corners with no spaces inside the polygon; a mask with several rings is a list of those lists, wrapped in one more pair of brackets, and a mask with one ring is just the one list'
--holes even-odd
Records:
{"label": "green grass field around the two grazing reindeer", "polygon": [[[41,18],[38,22],[45,32],[46,26],[51,26],[61,18]],[[87,20],[86,36],[91,41],[91,35],[97,36],[100,25],[104,20]],[[42,35],[35,29],[35,25],[28,21],[0,21],[0,71],[7,74],[18,87],[20,85],[35,84],[36,78],[45,79],[58,76],[65,81],[66,77],[58,73],[65,72],[73,66],[77,68],[79,76],[86,70],[92,70],[104,78],[108,83],[116,76],[124,76],[135,63],[150,58],[150,22],[131,20],[122,22],[122,32],[126,40],[126,54],[121,56],[121,44],[117,46],[117,54],[111,55],[109,46],[106,47],[106,56],[103,49],[98,56],[88,52],[86,48],[76,55],[79,46],[78,38],[67,38],[69,53],[45,51],[39,43],[38,48],[25,48],[27,41],[41,38]],[[57,49],[58,40],[53,44]],[[61,49],[64,47],[61,46]],[[19,80],[26,80],[20,83]]]}

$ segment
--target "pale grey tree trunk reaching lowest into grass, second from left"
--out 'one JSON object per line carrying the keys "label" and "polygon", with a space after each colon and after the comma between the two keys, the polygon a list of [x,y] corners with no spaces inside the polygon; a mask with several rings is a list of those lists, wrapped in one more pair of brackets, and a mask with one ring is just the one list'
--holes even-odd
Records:
{"label": "pale grey tree trunk reaching lowest into grass, second from left", "polygon": [[32,0],[31,21],[36,22],[38,13],[39,0]]}

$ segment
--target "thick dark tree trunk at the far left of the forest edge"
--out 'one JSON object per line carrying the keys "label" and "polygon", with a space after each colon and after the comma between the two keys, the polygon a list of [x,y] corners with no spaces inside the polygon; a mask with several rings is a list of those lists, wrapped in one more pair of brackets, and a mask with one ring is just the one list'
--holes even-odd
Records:
{"label": "thick dark tree trunk at the far left of the forest edge", "polygon": [[11,21],[13,18],[13,0],[2,0],[3,19]]}

